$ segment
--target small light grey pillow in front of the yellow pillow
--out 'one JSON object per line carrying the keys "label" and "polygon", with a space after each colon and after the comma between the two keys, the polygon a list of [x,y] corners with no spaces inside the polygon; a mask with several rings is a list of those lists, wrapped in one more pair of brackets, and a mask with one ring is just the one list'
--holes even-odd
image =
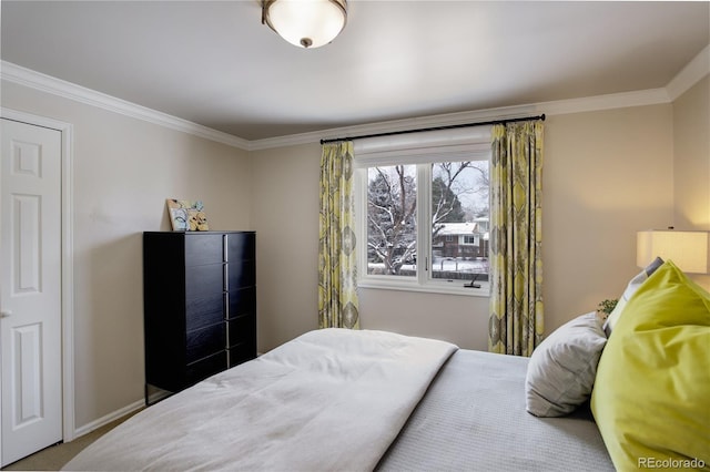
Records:
{"label": "small light grey pillow in front of the yellow pillow", "polygon": [[561,417],[589,400],[607,337],[597,314],[557,328],[532,351],[525,379],[526,409],[536,417]]}

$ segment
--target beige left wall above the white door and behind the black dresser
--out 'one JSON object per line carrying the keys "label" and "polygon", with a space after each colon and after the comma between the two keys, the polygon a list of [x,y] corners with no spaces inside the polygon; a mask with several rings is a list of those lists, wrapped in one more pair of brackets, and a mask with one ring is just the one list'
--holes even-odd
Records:
{"label": "beige left wall above the white door and behind the black dresser", "polygon": [[144,230],[165,198],[201,198],[214,228],[251,229],[244,151],[2,82],[2,106],[73,124],[75,425],[143,394]]}

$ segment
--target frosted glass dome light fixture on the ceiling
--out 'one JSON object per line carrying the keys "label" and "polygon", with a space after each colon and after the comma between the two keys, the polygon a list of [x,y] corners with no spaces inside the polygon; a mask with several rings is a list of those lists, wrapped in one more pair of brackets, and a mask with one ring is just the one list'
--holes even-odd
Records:
{"label": "frosted glass dome light fixture on the ceiling", "polygon": [[329,43],[347,20],[347,0],[262,0],[262,24],[300,48]]}

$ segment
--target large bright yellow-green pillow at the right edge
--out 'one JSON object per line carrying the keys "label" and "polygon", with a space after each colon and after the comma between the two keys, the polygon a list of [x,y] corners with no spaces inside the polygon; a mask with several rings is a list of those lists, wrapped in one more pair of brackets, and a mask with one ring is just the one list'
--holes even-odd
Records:
{"label": "large bright yellow-green pillow at the right edge", "polygon": [[710,294],[667,261],[629,299],[599,361],[591,411],[615,468],[710,464],[708,399]]}

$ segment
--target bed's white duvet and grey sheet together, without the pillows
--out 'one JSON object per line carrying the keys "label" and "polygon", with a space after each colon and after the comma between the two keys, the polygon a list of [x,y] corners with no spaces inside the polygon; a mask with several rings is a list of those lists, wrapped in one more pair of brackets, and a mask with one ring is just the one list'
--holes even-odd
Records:
{"label": "bed's white duvet and grey sheet together, without the pillows", "polygon": [[389,332],[312,331],[149,407],[64,469],[612,470],[589,415],[525,411],[526,366]]}

